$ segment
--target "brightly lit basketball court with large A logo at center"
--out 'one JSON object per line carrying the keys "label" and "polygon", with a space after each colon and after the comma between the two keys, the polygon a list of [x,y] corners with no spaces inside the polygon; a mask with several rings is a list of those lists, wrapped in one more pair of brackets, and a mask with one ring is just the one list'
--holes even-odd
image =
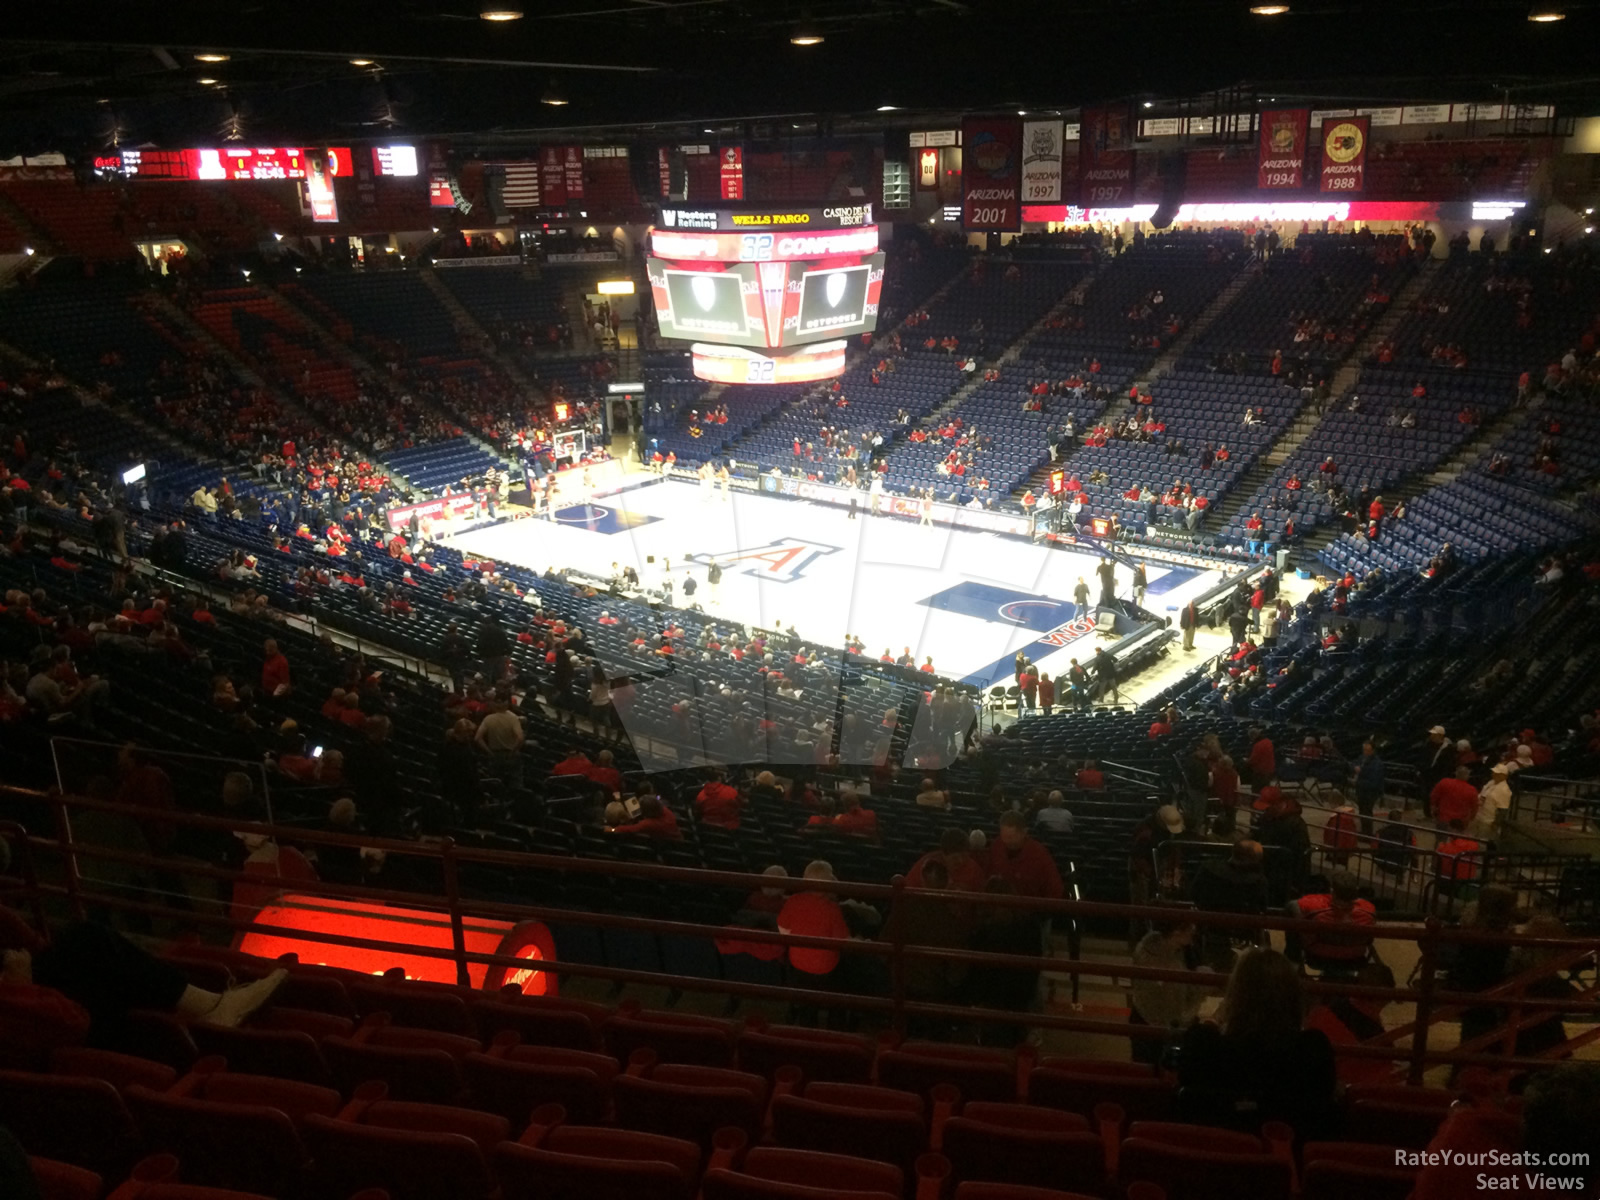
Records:
{"label": "brightly lit basketball court with large A logo at center", "polygon": [[[1099,597],[1094,554],[1053,549],[976,530],[922,526],[757,493],[725,494],[691,483],[650,482],[590,502],[557,502],[550,520],[502,522],[451,538],[461,550],[544,571],[574,568],[610,578],[632,566],[659,587],[669,565],[674,603],[693,603],[755,627],[781,622],[803,638],[842,646],[859,637],[872,658],[909,646],[917,662],[976,686],[1008,683],[1018,651],[1051,675],[1093,653],[1094,627],[1078,619],[1080,578]],[[707,570],[722,566],[722,584]],[[613,568],[613,563],[616,568]],[[1160,562],[1146,566],[1146,608],[1176,618],[1221,573]],[[1131,571],[1117,565],[1117,594]]]}

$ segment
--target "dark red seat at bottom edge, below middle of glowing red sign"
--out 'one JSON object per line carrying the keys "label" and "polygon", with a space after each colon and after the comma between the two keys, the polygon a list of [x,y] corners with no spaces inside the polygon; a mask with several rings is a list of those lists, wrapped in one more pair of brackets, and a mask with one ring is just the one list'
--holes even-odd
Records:
{"label": "dark red seat at bottom edge, below middle of glowing red sign", "polygon": [[382,1187],[394,1200],[491,1200],[494,1178],[478,1144],[459,1133],[386,1130],[306,1118],[306,1144],[325,1192]]}

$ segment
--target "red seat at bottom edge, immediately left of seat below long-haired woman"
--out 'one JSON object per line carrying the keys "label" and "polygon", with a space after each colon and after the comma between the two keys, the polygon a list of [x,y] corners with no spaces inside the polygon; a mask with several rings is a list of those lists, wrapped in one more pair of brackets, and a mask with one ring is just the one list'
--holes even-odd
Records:
{"label": "red seat at bottom edge, immediately left of seat below long-haired woman", "polygon": [[968,1104],[944,1125],[941,1152],[957,1181],[1101,1192],[1106,1147],[1078,1114],[1026,1104]]}

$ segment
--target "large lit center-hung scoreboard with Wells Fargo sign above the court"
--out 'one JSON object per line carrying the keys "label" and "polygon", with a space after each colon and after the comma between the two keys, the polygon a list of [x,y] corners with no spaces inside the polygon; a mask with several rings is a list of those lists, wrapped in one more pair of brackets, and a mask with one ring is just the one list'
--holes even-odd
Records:
{"label": "large lit center-hung scoreboard with Wells Fargo sign above the court", "polygon": [[[883,291],[872,205],[662,208],[650,230],[646,272],[661,334],[698,342],[699,378],[738,382],[842,373],[842,339],[877,328]],[[819,342],[829,342],[824,354],[787,362],[787,350]],[[722,354],[717,346],[758,354]]]}

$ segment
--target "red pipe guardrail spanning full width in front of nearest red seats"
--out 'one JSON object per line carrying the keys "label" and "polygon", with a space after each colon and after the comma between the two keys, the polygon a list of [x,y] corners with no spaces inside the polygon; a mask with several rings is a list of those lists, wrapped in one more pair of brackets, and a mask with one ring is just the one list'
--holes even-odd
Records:
{"label": "red pipe guardrail spanning full width in front of nearest red seats", "polygon": [[[187,878],[211,880],[218,885],[248,880],[251,885],[259,886],[262,877],[211,866],[198,859],[158,858],[147,853],[98,846],[77,840],[72,832],[74,813],[102,811],[115,813],[133,821],[157,819],[152,818],[149,810],[82,797],[66,797],[53,792],[45,794],[11,786],[0,786],[0,802],[22,806],[42,806],[54,824],[54,837],[30,834],[19,822],[0,824],[0,835],[6,835],[21,848],[22,864],[21,875],[0,877],[0,885],[22,894],[32,906],[35,918],[40,920],[46,902],[66,906],[67,914],[74,918],[82,918],[93,904],[94,907],[109,912],[144,914],[147,917],[162,915],[168,918],[176,917],[182,923],[210,931],[214,936],[232,936],[251,930],[269,934],[277,933],[310,942],[390,950],[397,954],[403,952],[414,957],[448,960],[454,965],[456,979],[464,986],[469,982],[469,963],[482,963],[486,966],[504,966],[518,971],[549,971],[558,978],[573,976],[602,979],[616,984],[656,984],[669,989],[710,992],[733,998],[778,1000],[794,1005],[875,1013],[888,1019],[896,1030],[904,1030],[909,1019],[928,1019],[960,1024],[984,1022],[1030,1026],[1086,1034],[1106,1034],[1126,1038],[1166,1037],[1166,1030],[1149,1026],[1133,1026],[1123,1021],[1104,1021],[1053,1011],[982,1008],[950,1003],[939,998],[917,998],[910,994],[907,982],[907,966],[917,960],[963,965],[968,968],[1050,971],[1072,976],[1082,974],[1114,981],[1146,979],[1155,982],[1198,986],[1210,990],[1221,990],[1226,986],[1226,978],[1211,973],[1166,971],[1134,966],[1125,962],[1085,960],[1082,957],[1058,958],[1051,955],[997,954],[915,944],[909,939],[906,928],[907,902],[958,906],[966,912],[998,912],[1010,909],[1032,914],[1038,918],[1061,917],[1067,922],[1082,917],[1112,917],[1125,922],[1173,922],[1174,918],[1181,918],[1206,930],[1278,930],[1301,934],[1320,928],[1314,922],[1274,915],[1211,914],[1174,909],[1171,906],[1123,906],[1082,899],[1048,901],[1024,896],[907,888],[904,877],[896,877],[888,885],[776,878],[770,875],[747,875],[723,870],[667,867],[654,862],[624,862],[613,859],[581,859],[518,851],[478,850],[458,846],[450,838],[440,838],[437,842],[400,842],[392,838],[352,837],[323,830],[210,818],[190,813],[162,813],[158,816],[158,821],[163,826],[184,826],[226,834],[261,834],[299,845],[371,848],[382,850],[387,854],[406,854],[435,861],[440,867],[438,878],[442,891],[438,893],[397,891],[392,888],[368,888],[330,882],[307,883],[299,880],[293,883],[293,890],[296,893],[314,896],[376,901],[382,904],[432,909],[435,912],[448,914],[451,926],[451,947],[438,949],[414,946],[398,938],[376,939],[328,934],[275,926],[270,923],[256,923],[253,920],[235,920],[227,915],[226,904],[221,898],[214,902],[214,910],[206,910],[202,906],[186,912],[176,912],[173,907],[162,902],[130,898],[125,886],[99,890],[93,880],[85,878],[80,867],[82,861],[104,861],[117,862],[126,867],[174,872]],[[40,878],[40,856],[54,858],[61,882],[43,882]],[[773,933],[768,930],[661,920],[614,912],[584,912],[549,904],[512,904],[467,894],[461,886],[461,870],[467,866],[499,867],[507,870],[515,869],[536,874],[547,872],[550,875],[651,880],[662,885],[680,883],[702,888],[730,888],[747,893],[763,888],[776,888],[790,893],[821,891],[842,899],[886,902],[888,920],[885,923],[883,936],[880,939],[869,941],[858,938],[811,938],[792,933]],[[538,966],[533,966],[526,958],[469,950],[466,942],[466,920],[469,917],[514,922],[562,922],[566,925],[592,926],[597,930],[629,930],[646,934],[704,938],[714,942],[717,939],[736,939],[739,942],[776,944],[782,947],[826,949],[842,955],[861,955],[882,960],[886,966],[888,986],[882,992],[864,994],[843,992],[837,989],[830,990],[816,987],[752,984],[736,979],[712,979],[702,976],[674,974],[669,971],[634,970],[560,960],[539,960]],[[1600,1040],[1600,998],[1597,998],[1597,989],[1594,986],[1582,989],[1574,997],[1560,1000],[1528,995],[1528,989],[1533,984],[1549,979],[1555,971],[1565,970],[1574,960],[1587,958],[1600,952],[1600,938],[1552,939],[1522,934],[1491,934],[1472,930],[1446,928],[1438,920],[1429,920],[1422,928],[1378,923],[1370,928],[1370,933],[1374,942],[1408,941],[1418,944],[1421,957],[1414,974],[1414,986],[1381,989],[1358,987],[1339,981],[1310,979],[1304,984],[1306,992],[1317,998],[1342,995],[1413,1003],[1416,1005],[1414,1021],[1411,1026],[1405,1027],[1403,1032],[1390,1030],[1384,1038],[1373,1043],[1336,1046],[1336,1053],[1341,1056],[1390,1061],[1398,1064],[1398,1069],[1403,1069],[1408,1082],[1421,1083],[1424,1072],[1430,1066],[1488,1066],[1501,1070],[1538,1069],[1550,1066],[1550,1062],[1566,1053],[1571,1053],[1573,1050],[1578,1050],[1579,1046]],[[1549,952],[1554,957],[1539,968],[1525,971],[1522,976],[1517,976],[1515,979],[1510,979],[1488,992],[1454,992],[1442,986],[1440,963],[1442,954],[1448,947],[1462,944],[1520,946]],[[1493,1038],[1480,1038],[1478,1042],[1469,1043],[1467,1050],[1445,1051],[1430,1048],[1429,1030],[1440,1019],[1454,1014],[1459,1008],[1482,1006],[1485,1002],[1494,1002],[1510,1011],[1510,1019],[1496,1034],[1504,1053],[1485,1053],[1485,1048],[1494,1043]],[[1515,1034],[1520,1027],[1547,1019],[1550,1014],[1568,1013],[1578,1014],[1586,1022],[1594,1022],[1594,1027],[1574,1038],[1570,1038],[1560,1046],[1541,1053],[1538,1058],[1517,1058],[1512,1054]],[[1408,1046],[1397,1045],[1402,1035],[1411,1037],[1411,1043]]]}

